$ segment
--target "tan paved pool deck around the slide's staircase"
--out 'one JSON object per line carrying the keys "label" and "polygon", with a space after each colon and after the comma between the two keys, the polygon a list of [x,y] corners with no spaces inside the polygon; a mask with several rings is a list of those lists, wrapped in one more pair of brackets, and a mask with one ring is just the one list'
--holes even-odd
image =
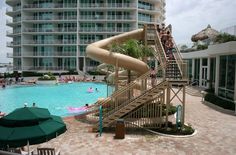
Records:
{"label": "tan paved pool deck around the slide's staircase", "polygon": [[197,134],[190,138],[126,134],[125,139],[115,140],[114,133],[97,137],[90,132],[91,125],[65,118],[66,133],[31,148],[55,147],[61,150],[61,155],[236,154],[236,117],[218,112],[201,100],[201,97],[186,95],[185,122],[197,129]]}

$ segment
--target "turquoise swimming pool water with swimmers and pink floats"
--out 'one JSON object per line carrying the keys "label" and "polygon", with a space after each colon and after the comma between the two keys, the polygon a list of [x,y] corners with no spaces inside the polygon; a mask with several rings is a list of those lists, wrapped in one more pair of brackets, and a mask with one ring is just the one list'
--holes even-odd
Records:
{"label": "turquoise swimming pool water with swimmers and pink floats", "polygon": [[[88,88],[94,91],[88,93]],[[95,91],[95,88],[98,91]],[[92,104],[98,98],[107,96],[107,85],[104,83],[81,82],[59,85],[17,86],[0,89],[0,111],[9,113],[24,103],[49,109],[51,114],[59,116],[72,115],[68,107],[81,107]]]}

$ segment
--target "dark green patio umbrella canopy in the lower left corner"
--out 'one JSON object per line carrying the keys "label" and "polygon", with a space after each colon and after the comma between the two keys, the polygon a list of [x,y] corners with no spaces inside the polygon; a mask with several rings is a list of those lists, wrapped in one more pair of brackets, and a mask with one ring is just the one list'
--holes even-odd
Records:
{"label": "dark green patio umbrella canopy in the lower left corner", "polygon": [[[22,114],[21,111],[27,112],[26,115],[18,116],[15,114]],[[44,112],[42,113],[42,111]],[[50,115],[50,113],[48,115],[48,113],[42,108],[34,108],[34,110],[33,108],[20,108],[1,118],[0,147],[21,147],[39,144],[64,133],[66,125],[61,117]],[[38,118],[34,117],[32,119],[29,114],[38,116]],[[16,117],[15,120],[13,116]],[[23,118],[26,120],[23,120]]]}

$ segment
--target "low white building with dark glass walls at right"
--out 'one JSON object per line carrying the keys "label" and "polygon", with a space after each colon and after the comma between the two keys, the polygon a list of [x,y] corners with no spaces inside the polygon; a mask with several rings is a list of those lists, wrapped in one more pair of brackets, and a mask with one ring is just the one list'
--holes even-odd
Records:
{"label": "low white building with dark glass walls at right", "polygon": [[192,82],[214,88],[215,94],[236,101],[236,41],[210,45],[202,51],[182,53],[188,60]]}

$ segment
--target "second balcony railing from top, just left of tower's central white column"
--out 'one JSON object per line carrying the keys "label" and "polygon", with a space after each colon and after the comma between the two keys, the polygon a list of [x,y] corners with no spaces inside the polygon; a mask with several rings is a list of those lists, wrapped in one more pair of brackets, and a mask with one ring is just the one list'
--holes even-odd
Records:
{"label": "second balcony railing from top, just left of tower's central white column", "polygon": [[26,16],[24,20],[77,20],[77,16]]}

